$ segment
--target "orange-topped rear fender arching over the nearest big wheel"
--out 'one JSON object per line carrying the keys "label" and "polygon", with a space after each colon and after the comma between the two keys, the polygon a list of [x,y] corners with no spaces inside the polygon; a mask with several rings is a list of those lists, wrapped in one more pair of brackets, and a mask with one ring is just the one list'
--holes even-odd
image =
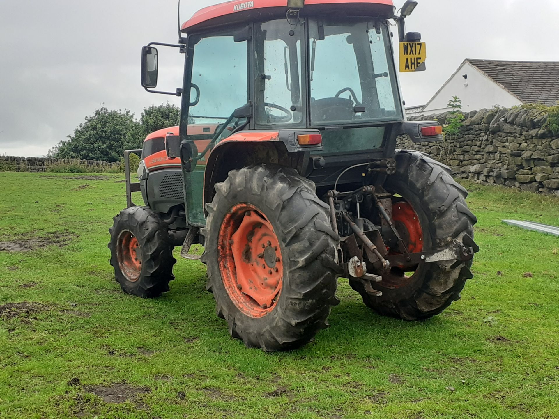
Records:
{"label": "orange-topped rear fender arching over the nearest big wheel", "polygon": [[252,164],[278,164],[305,176],[311,151],[322,145],[301,147],[297,135],[319,134],[317,130],[240,131],[222,140],[211,151],[204,174],[204,204],[214,199],[216,183],[229,172]]}

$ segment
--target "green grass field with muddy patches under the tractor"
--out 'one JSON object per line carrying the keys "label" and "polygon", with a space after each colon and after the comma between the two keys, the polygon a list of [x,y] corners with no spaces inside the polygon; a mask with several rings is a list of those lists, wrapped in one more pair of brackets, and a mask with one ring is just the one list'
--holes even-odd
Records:
{"label": "green grass field with muddy patches under the tractor", "polygon": [[559,199],[466,184],[481,251],[460,301],[402,322],[340,279],[331,327],[266,354],[230,338],[201,263],[161,298],[122,293],[122,177],[80,176],[0,173],[0,417],[559,417],[559,237],[500,221],[559,225]]}

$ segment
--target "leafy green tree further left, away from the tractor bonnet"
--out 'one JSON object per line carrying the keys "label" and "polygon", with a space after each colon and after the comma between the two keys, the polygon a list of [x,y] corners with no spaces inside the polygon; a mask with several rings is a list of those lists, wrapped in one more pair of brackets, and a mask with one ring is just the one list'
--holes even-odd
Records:
{"label": "leafy green tree further left, away from the tractor bonnet", "polygon": [[[102,107],[75,128],[74,135],[49,150],[60,159],[120,161],[130,132],[138,132],[140,123],[128,109],[109,111]],[[141,128],[141,126],[140,126]]]}

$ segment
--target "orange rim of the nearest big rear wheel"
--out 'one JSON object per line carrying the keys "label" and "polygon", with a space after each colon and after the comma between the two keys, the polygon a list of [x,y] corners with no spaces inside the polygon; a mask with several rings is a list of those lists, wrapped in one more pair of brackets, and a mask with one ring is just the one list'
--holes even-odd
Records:
{"label": "orange rim of the nearest big rear wheel", "polygon": [[219,269],[231,301],[250,317],[276,307],[283,281],[280,241],[272,223],[252,204],[236,204],[221,223]]}

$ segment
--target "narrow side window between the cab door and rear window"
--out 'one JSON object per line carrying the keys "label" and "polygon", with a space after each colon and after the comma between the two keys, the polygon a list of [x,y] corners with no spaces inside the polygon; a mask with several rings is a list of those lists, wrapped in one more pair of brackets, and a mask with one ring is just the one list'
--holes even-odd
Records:
{"label": "narrow side window between the cab door and rear window", "polygon": [[255,44],[255,93],[259,125],[301,123],[301,39],[303,26],[287,20],[264,22]]}

